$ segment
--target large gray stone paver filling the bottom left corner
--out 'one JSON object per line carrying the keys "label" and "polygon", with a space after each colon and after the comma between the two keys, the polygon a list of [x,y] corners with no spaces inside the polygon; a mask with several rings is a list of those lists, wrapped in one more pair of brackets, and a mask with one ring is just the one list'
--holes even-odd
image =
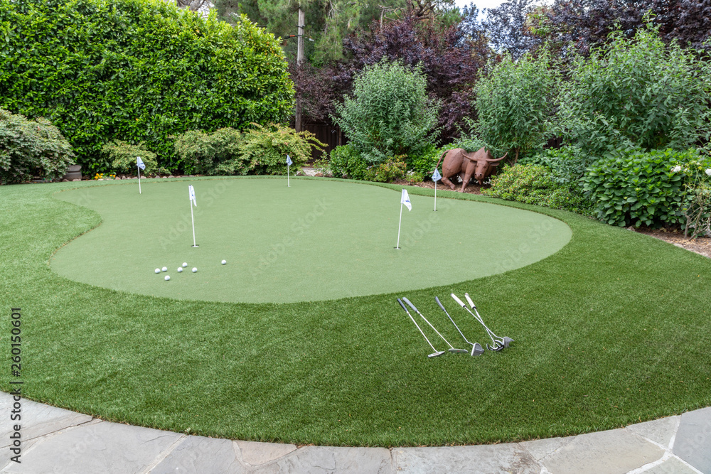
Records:
{"label": "large gray stone paver filling the bottom left corner", "polygon": [[141,473],[165,457],[184,435],[107,421],[53,433],[23,450],[7,473]]}

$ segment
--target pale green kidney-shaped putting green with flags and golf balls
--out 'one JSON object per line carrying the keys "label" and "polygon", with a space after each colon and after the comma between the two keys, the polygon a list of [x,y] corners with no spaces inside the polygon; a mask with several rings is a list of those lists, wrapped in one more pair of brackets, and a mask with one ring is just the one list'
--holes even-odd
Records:
{"label": "pale green kidney-shaped putting green with flags and golf balls", "polygon": [[[144,183],[140,195],[135,181],[59,193],[98,212],[102,224],[59,249],[52,269],[151,296],[319,301],[501,273],[557,252],[572,235],[565,223],[535,212],[442,198],[433,212],[433,198],[412,195],[395,249],[400,193],[390,189],[308,179],[290,188],[255,178],[193,185],[196,248],[186,181]],[[178,273],[183,262],[188,268]],[[163,266],[169,271],[154,273]]]}

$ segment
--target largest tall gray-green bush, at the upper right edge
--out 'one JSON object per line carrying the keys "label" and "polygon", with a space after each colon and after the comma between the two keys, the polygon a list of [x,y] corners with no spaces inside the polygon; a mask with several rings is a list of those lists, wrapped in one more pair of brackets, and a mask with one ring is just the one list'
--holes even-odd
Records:
{"label": "largest tall gray-green bush, at the upper right edge", "polygon": [[579,58],[560,96],[560,133],[592,153],[687,149],[711,129],[711,64],[648,24]]}

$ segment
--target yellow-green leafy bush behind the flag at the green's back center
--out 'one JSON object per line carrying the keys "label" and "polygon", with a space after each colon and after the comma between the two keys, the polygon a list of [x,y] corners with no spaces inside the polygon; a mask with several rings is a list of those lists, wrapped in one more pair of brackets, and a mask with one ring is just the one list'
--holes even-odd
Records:
{"label": "yellow-green leafy bush behind the flag at the green's back center", "polygon": [[239,153],[249,171],[255,174],[287,174],[287,155],[294,162],[291,171],[296,173],[311,158],[311,147],[321,152],[326,149],[326,144],[310,131],[297,132],[279,124],[252,126],[255,128],[242,137]]}

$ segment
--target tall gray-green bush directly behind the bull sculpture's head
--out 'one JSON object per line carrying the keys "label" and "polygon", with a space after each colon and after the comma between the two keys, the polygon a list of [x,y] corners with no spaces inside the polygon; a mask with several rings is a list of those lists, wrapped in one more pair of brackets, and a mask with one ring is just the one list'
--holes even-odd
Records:
{"label": "tall gray-green bush directly behind the bull sculpture's head", "polygon": [[504,56],[476,85],[474,125],[481,139],[496,149],[520,153],[541,149],[552,132],[558,77],[545,51],[518,60]]}

